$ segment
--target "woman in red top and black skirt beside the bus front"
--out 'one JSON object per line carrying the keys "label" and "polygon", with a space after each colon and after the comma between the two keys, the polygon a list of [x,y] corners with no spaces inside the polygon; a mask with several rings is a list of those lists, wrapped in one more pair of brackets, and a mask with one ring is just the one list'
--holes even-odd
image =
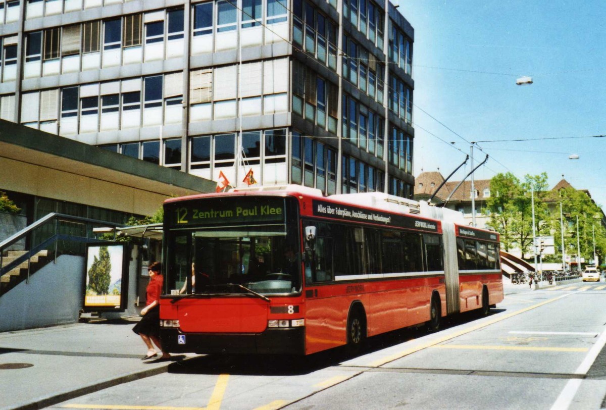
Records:
{"label": "woman in red top and black skirt beside the bus front", "polygon": [[141,360],[153,359],[158,352],[153,348],[151,342],[155,343],[162,352],[160,359],[170,359],[170,354],[162,350],[160,342],[160,294],[162,293],[162,282],[164,277],[161,274],[162,265],[160,262],[151,263],[147,268],[150,274],[150,282],[147,285],[147,300],[145,308],[141,309],[141,320],[133,328],[133,332],[141,336],[145,346],[147,346],[147,355]]}

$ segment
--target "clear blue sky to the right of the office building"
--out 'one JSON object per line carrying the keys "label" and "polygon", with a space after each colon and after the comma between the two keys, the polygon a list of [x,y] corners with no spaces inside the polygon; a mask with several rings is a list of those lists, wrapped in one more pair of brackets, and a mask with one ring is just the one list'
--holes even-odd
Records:
{"label": "clear blue sky to the right of the office building", "polygon": [[490,156],[476,179],[546,172],[553,188],[564,174],[606,210],[606,137],[587,138],[606,134],[605,1],[396,4],[415,28],[415,175],[448,176],[475,141],[475,164]]}

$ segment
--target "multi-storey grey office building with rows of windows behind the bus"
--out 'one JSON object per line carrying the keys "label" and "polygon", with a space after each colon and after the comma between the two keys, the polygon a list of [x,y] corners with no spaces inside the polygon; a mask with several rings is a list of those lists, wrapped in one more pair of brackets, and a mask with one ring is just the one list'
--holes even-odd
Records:
{"label": "multi-storey grey office building with rows of windows behind the bus", "polygon": [[0,0],[0,118],[231,186],[412,197],[413,38],[381,0]]}

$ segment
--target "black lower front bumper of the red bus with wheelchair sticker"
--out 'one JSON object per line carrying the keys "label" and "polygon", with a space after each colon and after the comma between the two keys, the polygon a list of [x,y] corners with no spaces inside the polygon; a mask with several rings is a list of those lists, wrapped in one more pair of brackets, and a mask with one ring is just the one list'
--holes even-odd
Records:
{"label": "black lower front bumper of the red bus with wheelchair sticker", "polygon": [[305,354],[305,328],[267,329],[261,333],[184,333],[160,328],[162,347],[171,353]]}

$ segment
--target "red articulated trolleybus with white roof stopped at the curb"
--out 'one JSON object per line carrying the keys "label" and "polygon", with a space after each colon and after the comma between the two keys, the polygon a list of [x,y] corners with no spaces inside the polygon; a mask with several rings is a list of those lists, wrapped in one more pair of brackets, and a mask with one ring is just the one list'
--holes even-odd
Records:
{"label": "red articulated trolleybus with white roof stopped at the curb", "polygon": [[[264,188],[268,189],[268,188]],[[383,193],[287,185],[164,203],[170,352],[311,354],[503,300],[499,234]]]}

